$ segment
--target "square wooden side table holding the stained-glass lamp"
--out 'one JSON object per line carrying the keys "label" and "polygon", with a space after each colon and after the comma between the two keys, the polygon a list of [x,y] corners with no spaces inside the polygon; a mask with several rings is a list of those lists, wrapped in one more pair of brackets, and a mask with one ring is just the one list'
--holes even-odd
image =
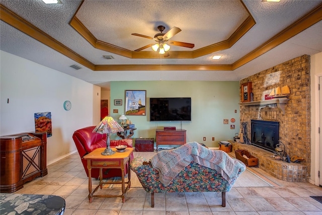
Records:
{"label": "square wooden side table holding the stained-glass lamp", "polygon": [[[112,148],[113,151],[116,151],[114,155],[101,155],[105,148],[99,148],[93,152],[84,156],[84,159],[87,160],[87,168],[89,170],[89,200],[92,202],[94,197],[121,197],[123,203],[125,202],[125,193],[131,186],[131,171],[130,171],[130,157],[133,154],[133,148],[126,148],[124,152],[117,152],[115,148]],[[125,182],[124,178],[124,169],[128,163],[128,180]],[[92,168],[100,168],[100,183],[92,192]],[[102,169],[108,168],[119,168],[122,171],[122,182],[104,182]],[[122,195],[94,195],[94,193],[100,187],[102,189],[103,184],[122,184]],[[125,187],[125,184],[127,186]]]}

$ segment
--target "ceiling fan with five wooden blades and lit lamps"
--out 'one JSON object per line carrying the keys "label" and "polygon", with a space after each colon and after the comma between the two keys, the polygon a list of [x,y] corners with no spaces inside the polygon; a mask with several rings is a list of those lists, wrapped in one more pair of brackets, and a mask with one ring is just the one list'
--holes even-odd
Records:
{"label": "ceiling fan with five wooden blades and lit lamps", "polygon": [[[163,33],[163,31],[166,29],[166,27],[163,25],[157,26],[157,29],[160,31],[160,33],[155,34],[154,37],[145,36],[145,35],[136,34],[136,33],[131,34],[134,36],[152,39],[152,40],[155,40],[155,42],[156,42],[156,43],[151,43],[151,44],[148,44],[148,45],[143,46],[141,48],[138,48],[134,51],[141,51],[143,49],[146,49],[146,48],[152,46],[153,51],[158,51],[159,54],[165,54],[170,49],[169,44],[187,47],[187,48],[193,48],[195,46],[195,44],[192,44],[192,43],[185,43],[185,42],[178,42],[178,41],[169,40],[170,38],[172,38],[173,36],[175,36],[176,34],[178,34],[181,31],[181,29],[178,27],[173,27],[167,33]],[[168,53],[168,56],[169,56],[169,53]]]}

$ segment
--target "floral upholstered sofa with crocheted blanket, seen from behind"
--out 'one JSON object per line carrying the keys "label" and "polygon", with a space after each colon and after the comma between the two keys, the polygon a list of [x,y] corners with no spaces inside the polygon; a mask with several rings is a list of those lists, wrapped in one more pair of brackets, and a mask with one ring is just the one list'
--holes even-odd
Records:
{"label": "floral upholstered sofa with crocheted blanket, seen from behind", "polygon": [[143,189],[151,193],[151,207],[158,192],[221,192],[221,205],[225,207],[225,193],[246,169],[245,164],[225,152],[209,150],[197,142],[160,151],[149,162],[143,157],[134,158],[130,167]]}

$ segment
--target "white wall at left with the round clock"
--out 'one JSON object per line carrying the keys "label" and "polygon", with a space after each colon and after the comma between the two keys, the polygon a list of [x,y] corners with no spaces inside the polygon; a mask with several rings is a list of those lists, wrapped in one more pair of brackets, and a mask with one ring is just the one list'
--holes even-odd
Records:
{"label": "white wall at left with the round clock", "polygon": [[0,60],[0,135],[34,132],[34,113],[51,112],[47,165],[75,152],[73,132],[100,122],[101,88],[4,51]]}

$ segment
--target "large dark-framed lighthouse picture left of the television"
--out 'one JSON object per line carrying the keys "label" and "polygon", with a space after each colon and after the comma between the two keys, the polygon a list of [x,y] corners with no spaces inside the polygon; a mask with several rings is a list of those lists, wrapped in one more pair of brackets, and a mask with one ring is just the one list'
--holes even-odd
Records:
{"label": "large dark-framed lighthouse picture left of the television", "polygon": [[146,90],[125,90],[125,115],[145,116]]}

